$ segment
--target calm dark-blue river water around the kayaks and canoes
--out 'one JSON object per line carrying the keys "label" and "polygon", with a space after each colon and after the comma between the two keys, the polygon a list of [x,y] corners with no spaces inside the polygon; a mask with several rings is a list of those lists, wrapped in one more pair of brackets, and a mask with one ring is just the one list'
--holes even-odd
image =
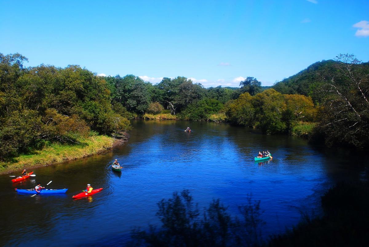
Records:
{"label": "calm dark-blue river water around the kayaks and canoes", "polygon": [[[192,133],[184,132],[189,126]],[[200,208],[213,198],[238,213],[247,194],[261,200],[264,236],[296,224],[300,212],[320,212],[320,196],[341,180],[365,177],[367,165],[320,151],[306,140],[262,135],[248,128],[207,122],[134,121],[131,138],[108,154],[34,169],[36,177],[12,184],[0,176],[0,246],[124,244],[133,227],[158,224],[156,203],[189,189]],[[259,150],[273,159],[254,162]],[[124,169],[110,164],[117,158]],[[68,188],[60,195],[22,195],[14,188]],[[104,190],[71,197],[90,183]]]}

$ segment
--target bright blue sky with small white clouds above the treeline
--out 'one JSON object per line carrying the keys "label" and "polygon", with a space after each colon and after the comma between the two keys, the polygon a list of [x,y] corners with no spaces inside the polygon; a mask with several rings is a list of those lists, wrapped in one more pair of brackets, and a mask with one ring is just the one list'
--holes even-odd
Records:
{"label": "bright blue sky with small white clouds above the treeline", "polygon": [[3,1],[0,52],[28,66],[262,85],[352,53],[369,61],[368,0]]}

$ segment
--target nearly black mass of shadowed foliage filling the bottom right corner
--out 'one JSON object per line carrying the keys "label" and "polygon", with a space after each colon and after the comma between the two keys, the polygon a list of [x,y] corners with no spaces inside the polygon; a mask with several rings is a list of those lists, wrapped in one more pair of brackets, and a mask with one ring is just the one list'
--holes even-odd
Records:
{"label": "nearly black mass of shadowed foliage filling the bottom right corner", "polygon": [[368,246],[368,195],[368,183],[337,184],[322,197],[322,217],[305,216],[268,246]]}

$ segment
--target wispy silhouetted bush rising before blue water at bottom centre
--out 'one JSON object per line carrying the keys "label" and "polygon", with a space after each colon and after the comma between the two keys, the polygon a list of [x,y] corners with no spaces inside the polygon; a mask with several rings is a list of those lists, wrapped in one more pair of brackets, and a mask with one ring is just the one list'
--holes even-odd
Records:
{"label": "wispy silhouetted bush rising before blue water at bottom centre", "polygon": [[232,217],[220,200],[213,200],[201,211],[188,190],[173,193],[172,198],[158,202],[156,215],[160,228],[134,229],[132,246],[256,246],[261,244],[259,227],[260,201],[248,195],[246,205],[239,207],[242,218]]}

